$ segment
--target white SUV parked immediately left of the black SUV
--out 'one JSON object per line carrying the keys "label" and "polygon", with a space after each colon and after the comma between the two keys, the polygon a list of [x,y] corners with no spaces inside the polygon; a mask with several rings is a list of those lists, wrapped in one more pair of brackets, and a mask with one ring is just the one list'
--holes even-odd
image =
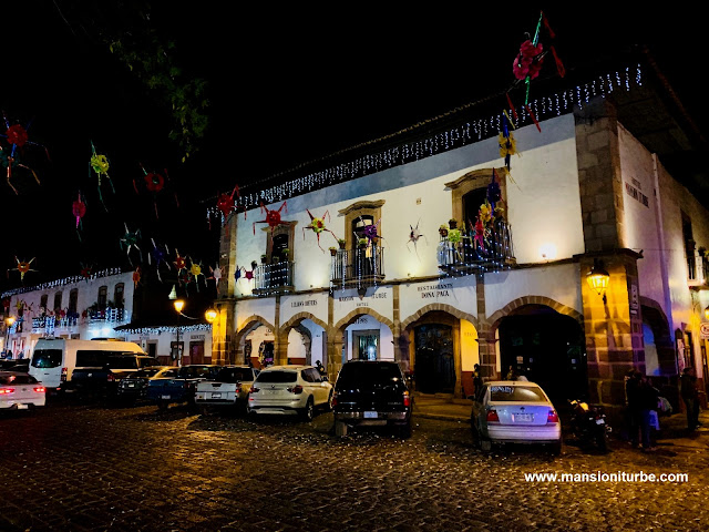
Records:
{"label": "white SUV parked immediately left of the black SUV", "polygon": [[269,366],[248,395],[248,413],[300,415],[312,420],[316,408],[330,409],[332,385],[314,366]]}

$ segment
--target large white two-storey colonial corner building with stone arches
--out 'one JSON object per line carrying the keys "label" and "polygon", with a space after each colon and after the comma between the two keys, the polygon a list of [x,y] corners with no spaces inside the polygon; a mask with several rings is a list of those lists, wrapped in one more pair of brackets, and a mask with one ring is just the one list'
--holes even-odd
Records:
{"label": "large white two-storey colonial corner building with stone arches", "polygon": [[213,358],[320,359],[331,379],[392,359],[418,391],[453,397],[480,364],[610,408],[635,368],[676,400],[684,367],[707,371],[709,213],[639,125],[660,115],[644,69],[243,195],[223,228]]}

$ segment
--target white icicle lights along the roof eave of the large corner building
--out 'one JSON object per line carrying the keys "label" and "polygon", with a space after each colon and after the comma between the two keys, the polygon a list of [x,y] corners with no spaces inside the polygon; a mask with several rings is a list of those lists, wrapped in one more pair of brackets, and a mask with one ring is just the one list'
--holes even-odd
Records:
{"label": "white icicle lights along the roof eave of the large corner building", "polygon": [[[630,91],[633,86],[643,85],[643,71],[640,64],[626,66],[625,70],[617,70],[613,73],[598,75],[593,81],[579,84],[572,89],[554,93],[548,96],[538,98],[530,102],[530,108],[538,121],[573,111],[574,105],[583,108],[595,96],[610,94],[617,90]],[[507,114],[512,115],[511,110]],[[238,209],[248,211],[256,208],[260,203],[271,204],[282,202],[290,197],[308,192],[325,188],[337,183],[347,182],[357,177],[381,172],[394,166],[400,166],[414,161],[420,161],[439,153],[446,152],[467,144],[480,142],[484,139],[497,136],[502,131],[502,110],[495,115],[487,116],[471,122],[466,122],[436,133],[429,139],[410,142],[400,146],[391,147],[379,153],[368,154],[348,163],[342,163],[328,170],[314,172],[302,177],[295,178],[287,183],[264,188],[250,194],[243,194],[235,198],[235,206]],[[530,125],[533,121],[525,109],[517,110],[515,127]],[[496,149],[495,149],[496,152]],[[222,217],[217,207],[207,209],[207,217]],[[224,219],[222,219],[224,222]]]}

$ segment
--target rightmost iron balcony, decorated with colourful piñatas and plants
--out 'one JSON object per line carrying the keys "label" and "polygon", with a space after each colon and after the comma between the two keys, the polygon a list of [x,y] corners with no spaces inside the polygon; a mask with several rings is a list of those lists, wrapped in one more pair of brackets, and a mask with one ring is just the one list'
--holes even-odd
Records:
{"label": "rightmost iron balcony, decorated with colourful pi\u00f1atas and plants", "polygon": [[495,222],[481,243],[471,235],[451,241],[441,237],[438,246],[439,269],[450,276],[500,272],[516,265],[512,232],[504,221]]}

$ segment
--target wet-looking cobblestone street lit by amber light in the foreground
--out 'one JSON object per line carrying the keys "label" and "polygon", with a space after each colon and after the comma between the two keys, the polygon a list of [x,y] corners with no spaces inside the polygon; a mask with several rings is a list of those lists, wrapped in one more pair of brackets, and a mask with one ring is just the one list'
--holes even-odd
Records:
{"label": "wet-looking cobblestone street lit by amber light in the foreground", "polygon": [[[483,453],[464,422],[413,436],[53,403],[0,415],[0,530],[708,530],[706,449]],[[524,473],[688,473],[679,482],[527,482]]]}

